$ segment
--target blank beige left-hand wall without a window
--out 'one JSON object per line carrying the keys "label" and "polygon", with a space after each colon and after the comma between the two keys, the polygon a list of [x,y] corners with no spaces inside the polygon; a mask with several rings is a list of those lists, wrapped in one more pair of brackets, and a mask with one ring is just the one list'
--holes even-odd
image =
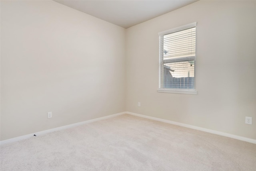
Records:
{"label": "blank beige left-hand wall without a window", "polygon": [[124,112],[124,68],[124,28],[54,1],[1,1],[1,140]]}

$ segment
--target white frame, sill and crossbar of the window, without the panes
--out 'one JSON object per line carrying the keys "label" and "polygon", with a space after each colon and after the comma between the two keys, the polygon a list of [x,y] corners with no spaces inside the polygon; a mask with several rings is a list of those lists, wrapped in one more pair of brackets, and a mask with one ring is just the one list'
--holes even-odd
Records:
{"label": "white frame, sill and crossbar of the window, without the panes", "polygon": [[[191,23],[191,24],[187,24],[185,26],[181,26],[181,27],[169,29],[169,30],[166,30],[166,31],[162,31],[162,32],[158,33],[158,36],[160,37],[162,35],[167,35],[167,34],[170,34],[170,33],[176,32],[176,31],[181,31],[181,30],[184,30],[184,29],[196,27],[196,24],[197,23],[194,22],[194,23]],[[162,88],[161,87],[161,83],[163,81],[163,80],[161,80],[162,79],[162,77],[161,77],[162,71],[161,70],[162,70],[162,65],[164,63],[163,62],[163,52],[162,52],[161,49],[163,49],[163,48],[161,47],[160,40],[159,40],[159,88],[157,89],[157,91],[158,92],[180,93],[180,94],[197,94],[197,91],[195,89],[195,84],[194,84],[194,89]],[[196,56],[194,56],[194,57],[182,57],[182,58],[167,59],[167,60],[164,60],[164,61],[165,61],[165,63],[167,63],[167,62],[179,62],[179,61],[190,61],[190,60],[194,60],[196,62]],[[196,66],[194,65],[194,70],[195,70],[195,68],[196,68]]]}

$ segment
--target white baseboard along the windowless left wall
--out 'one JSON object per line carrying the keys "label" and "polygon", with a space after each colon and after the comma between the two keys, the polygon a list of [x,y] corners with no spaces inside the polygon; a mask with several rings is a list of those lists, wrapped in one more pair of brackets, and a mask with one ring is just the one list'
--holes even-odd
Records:
{"label": "white baseboard along the windowless left wall", "polygon": [[0,142],[0,144],[4,145],[6,143],[18,142],[20,140],[25,140],[25,139],[31,138],[34,135],[42,136],[42,135],[50,133],[50,132],[55,132],[55,131],[64,130],[64,129],[67,129],[67,128],[72,128],[72,127],[75,127],[75,126],[79,126],[79,125],[83,125],[83,124],[88,124],[88,123],[91,123],[91,122],[96,122],[98,120],[104,120],[104,119],[112,118],[114,116],[118,116],[118,115],[122,115],[122,114],[126,114],[126,112],[120,112],[120,113],[117,113],[117,114],[103,116],[103,117],[95,118],[95,119],[92,119],[92,120],[86,120],[86,121],[78,122],[78,123],[75,123],[75,124],[70,124],[70,125],[61,126],[61,127],[58,127],[58,128],[53,128],[53,129],[50,129],[50,130],[35,132],[33,134],[28,134],[28,135],[24,135],[24,136],[19,136],[19,137],[11,138],[11,139],[8,139],[8,140],[3,140],[3,141]]}

